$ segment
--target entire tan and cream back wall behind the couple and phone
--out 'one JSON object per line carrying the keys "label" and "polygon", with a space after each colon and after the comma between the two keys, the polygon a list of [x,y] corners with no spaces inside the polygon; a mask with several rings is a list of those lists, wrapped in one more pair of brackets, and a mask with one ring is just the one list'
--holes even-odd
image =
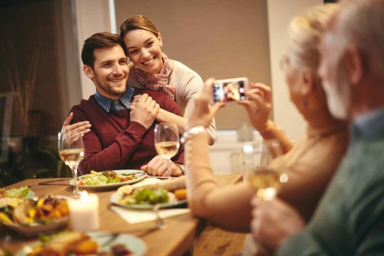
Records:
{"label": "entire tan and cream back wall behind the couple and phone", "polygon": [[[289,100],[279,59],[287,50],[289,20],[322,0],[115,0],[116,24],[144,14],[158,27],[163,51],[197,71],[203,79],[248,76],[272,86],[273,117],[292,139],[305,130]],[[91,32],[110,30],[107,0],[76,0],[78,46]],[[95,19],[94,17],[98,18]],[[117,29],[118,31],[118,29]],[[82,77],[82,97],[94,92]],[[84,85],[85,84],[85,85]],[[229,128],[247,119],[235,103],[217,114],[217,126]]]}

